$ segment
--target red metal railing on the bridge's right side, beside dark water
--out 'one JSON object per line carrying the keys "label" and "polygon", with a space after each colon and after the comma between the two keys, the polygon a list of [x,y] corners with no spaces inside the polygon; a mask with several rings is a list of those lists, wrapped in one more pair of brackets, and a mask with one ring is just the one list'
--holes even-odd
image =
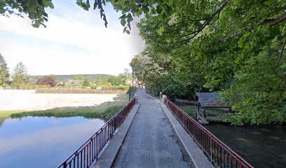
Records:
{"label": "red metal railing on the bridge's right side, beside dark water", "polygon": [[205,151],[206,155],[216,167],[253,167],[244,160],[240,155],[226,146],[221,140],[215,137],[212,133],[207,131],[196,120],[191,118],[182,109],[179,109],[169,99],[164,99],[164,104],[168,106],[170,111],[176,116],[184,128],[192,135],[200,148]]}

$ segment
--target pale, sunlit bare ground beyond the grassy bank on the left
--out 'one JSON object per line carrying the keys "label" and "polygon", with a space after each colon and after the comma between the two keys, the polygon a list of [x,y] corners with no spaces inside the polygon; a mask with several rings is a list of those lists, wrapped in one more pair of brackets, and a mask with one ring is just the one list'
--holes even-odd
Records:
{"label": "pale, sunlit bare ground beyond the grassy bank on the left", "polygon": [[0,90],[0,111],[35,111],[61,107],[104,106],[123,102],[125,94],[36,94],[35,90]]}

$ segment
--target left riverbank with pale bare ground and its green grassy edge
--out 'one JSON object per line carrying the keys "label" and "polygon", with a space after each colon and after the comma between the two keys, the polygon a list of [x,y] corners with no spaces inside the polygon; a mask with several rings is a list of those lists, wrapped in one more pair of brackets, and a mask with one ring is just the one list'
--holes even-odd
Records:
{"label": "left riverbank with pale bare ground and its green grassy edge", "polygon": [[0,118],[111,118],[128,103],[127,94],[36,94],[32,90],[1,90],[0,98]]}

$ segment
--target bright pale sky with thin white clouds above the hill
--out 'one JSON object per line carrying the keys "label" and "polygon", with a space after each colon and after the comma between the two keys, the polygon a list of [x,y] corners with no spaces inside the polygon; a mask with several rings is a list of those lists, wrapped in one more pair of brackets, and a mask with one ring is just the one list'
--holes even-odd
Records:
{"label": "bright pale sky with thin white clouds above the hill", "polygon": [[53,0],[47,9],[47,26],[32,27],[32,21],[0,15],[0,53],[10,73],[23,62],[29,75],[104,73],[118,76],[130,69],[132,57],[142,52],[144,41],[132,22],[130,35],[123,28],[113,6],[104,10],[107,28],[98,10],[83,10],[75,0]]}

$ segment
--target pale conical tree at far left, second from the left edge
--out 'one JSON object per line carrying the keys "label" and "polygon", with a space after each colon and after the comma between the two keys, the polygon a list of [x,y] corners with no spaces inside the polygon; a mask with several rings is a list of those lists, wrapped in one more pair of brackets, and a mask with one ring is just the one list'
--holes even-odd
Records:
{"label": "pale conical tree at far left, second from the left edge", "polygon": [[19,62],[15,66],[12,80],[13,80],[13,85],[21,85],[29,83],[29,76],[27,74],[27,69],[22,62]]}

